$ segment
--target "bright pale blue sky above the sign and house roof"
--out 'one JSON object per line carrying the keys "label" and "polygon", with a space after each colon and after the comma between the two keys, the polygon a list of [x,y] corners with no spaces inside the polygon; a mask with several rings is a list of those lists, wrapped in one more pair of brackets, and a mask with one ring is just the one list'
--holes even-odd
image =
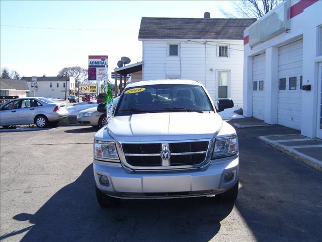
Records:
{"label": "bright pale blue sky above the sign and house roof", "polygon": [[[0,67],[21,76],[56,76],[88,67],[88,55],[108,55],[109,73],[122,56],[142,61],[141,17],[224,18],[229,1],[1,1]],[[16,28],[4,25],[38,27]],[[67,28],[56,30],[39,28]],[[85,30],[96,29],[96,30]],[[104,30],[97,30],[104,29]]]}

